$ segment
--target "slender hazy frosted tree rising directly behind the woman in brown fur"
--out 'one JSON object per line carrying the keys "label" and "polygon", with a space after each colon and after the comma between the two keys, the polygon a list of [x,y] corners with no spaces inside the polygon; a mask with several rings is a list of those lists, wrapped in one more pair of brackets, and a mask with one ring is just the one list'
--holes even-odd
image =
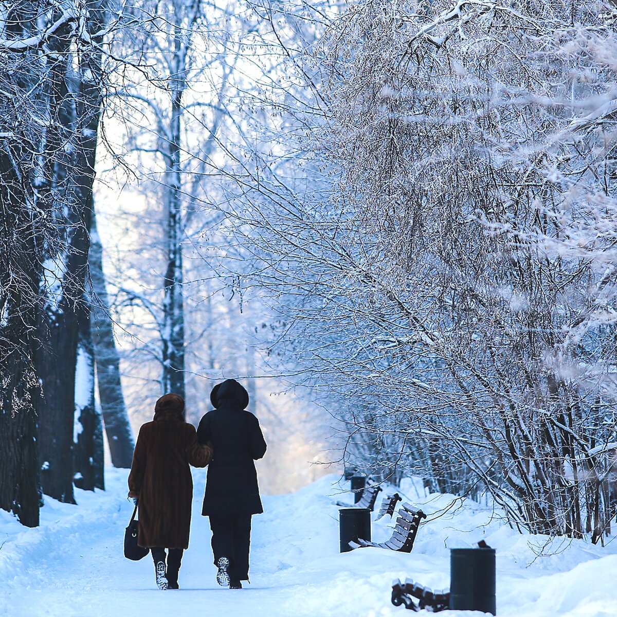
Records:
{"label": "slender hazy frosted tree rising directly behind the woman in brown fur", "polygon": [[130,165],[131,180],[141,182],[136,193],[149,204],[147,218],[131,222],[142,231],[141,263],[125,268],[132,271],[119,286],[118,306],[137,307],[138,317],[125,315],[141,350],[158,365],[160,391],[183,397],[191,339],[183,251],[190,245],[194,202],[203,197],[201,176],[225,115],[218,99],[233,70],[233,52],[208,46],[213,20],[221,14],[199,1],[128,7],[124,19],[131,27],[114,49],[135,70],[108,99],[110,123],[120,134],[110,144],[112,160],[118,167]]}

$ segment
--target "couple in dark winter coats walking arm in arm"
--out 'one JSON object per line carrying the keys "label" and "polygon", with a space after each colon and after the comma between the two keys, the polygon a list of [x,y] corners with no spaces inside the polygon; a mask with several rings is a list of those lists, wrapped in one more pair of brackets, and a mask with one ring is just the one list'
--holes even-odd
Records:
{"label": "couple in dark winter coats walking arm in arm", "polygon": [[191,527],[189,465],[209,465],[202,515],[210,518],[218,584],[241,589],[249,579],[251,516],[263,512],[253,461],[263,457],[266,442],[259,421],[246,411],[249,394],[235,379],[217,384],[210,400],[214,409],[195,431],[184,421],[182,397],[165,394],[135,445],[128,496],[138,500],[138,544],[151,549],[160,589],[179,589]]}

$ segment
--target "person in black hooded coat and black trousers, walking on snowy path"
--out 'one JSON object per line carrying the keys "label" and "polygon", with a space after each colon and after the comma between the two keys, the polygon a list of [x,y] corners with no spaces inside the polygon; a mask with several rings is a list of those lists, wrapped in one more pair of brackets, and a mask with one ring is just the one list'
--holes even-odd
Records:
{"label": "person in black hooded coat and black trousers, walking on snowy path", "polygon": [[249,394],[235,379],[213,387],[213,409],[199,422],[197,441],[214,450],[202,515],[212,529],[217,581],[241,589],[249,579],[251,516],[263,512],[254,460],[266,452],[259,420],[246,411]]}

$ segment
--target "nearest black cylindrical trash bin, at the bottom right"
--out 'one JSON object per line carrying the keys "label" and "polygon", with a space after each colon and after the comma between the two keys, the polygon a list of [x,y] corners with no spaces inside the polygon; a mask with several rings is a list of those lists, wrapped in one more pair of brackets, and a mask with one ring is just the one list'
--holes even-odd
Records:
{"label": "nearest black cylindrical trash bin, at the bottom right", "polygon": [[450,608],[495,615],[495,549],[450,549]]}

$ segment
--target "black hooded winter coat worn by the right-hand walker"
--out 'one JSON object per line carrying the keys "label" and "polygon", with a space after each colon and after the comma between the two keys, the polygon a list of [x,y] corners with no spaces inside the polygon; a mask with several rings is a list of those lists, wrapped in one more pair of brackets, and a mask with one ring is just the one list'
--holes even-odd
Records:
{"label": "black hooded winter coat worn by the right-hand walker", "polygon": [[249,394],[235,379],[212,389],[214,410],[197,428],[200,444],[212,445],[212,461],[205,486],[204,516],[263,512],[254,460],[266,452],[259,420],[244,408]]}

